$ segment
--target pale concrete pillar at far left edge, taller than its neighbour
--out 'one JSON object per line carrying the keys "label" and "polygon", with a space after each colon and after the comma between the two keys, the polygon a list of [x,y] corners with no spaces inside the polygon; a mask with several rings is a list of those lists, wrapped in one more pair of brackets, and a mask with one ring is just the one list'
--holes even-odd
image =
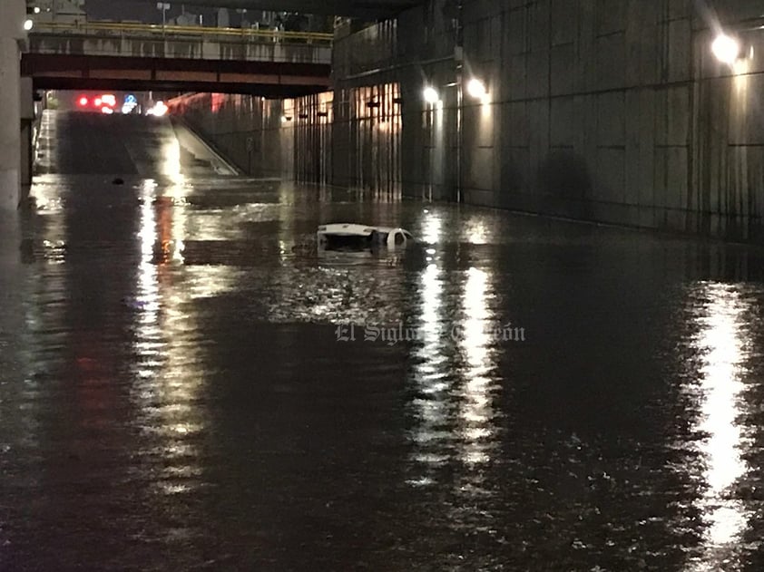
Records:
{"label": "pale concrete pillar at far left edge, taller than its neighbour", "polygon": [[0,210],[17,208],[21,185],[21,70],[24,0],[3,0],[0,18]]}

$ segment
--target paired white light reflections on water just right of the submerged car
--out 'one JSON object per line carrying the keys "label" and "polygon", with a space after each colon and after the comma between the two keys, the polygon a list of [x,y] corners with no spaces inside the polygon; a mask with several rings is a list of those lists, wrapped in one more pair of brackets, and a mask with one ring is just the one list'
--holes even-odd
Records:
{"label": "paired white light reflections on water just right of the submerged car", "polygon": [[[424,214],[423,239],[441,242],[441,218],[431,211]],[[486,466],[499,461],[494,459],[499,452],[494,400],[500,382],[493,371],[496,348],[489,331],[495,316],[488,307],[492,276],[477,267],[459,273],[455,318],[445,288],[446,280],[455,276],[446,272],[437,247],[427,248],[426,254],[426,267],[418,272],[415,324],[420,339],[413,347],[410,377],[414,465],[406,484],[414,490],[453,488],[449,526],[458,534],[495,535],[495,484],[486,474]]]}

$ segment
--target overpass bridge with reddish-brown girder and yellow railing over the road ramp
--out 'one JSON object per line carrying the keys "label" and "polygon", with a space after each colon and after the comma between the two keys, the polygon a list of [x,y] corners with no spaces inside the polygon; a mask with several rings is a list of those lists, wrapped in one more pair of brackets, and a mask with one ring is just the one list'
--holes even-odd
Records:
{"label": "overpass bridge with reddish-brown girder and yellow railing over the road ramp", "polygon": [[201,26],[39,23],[21,74],[35,89],[297,97],[329,88],[332,34]]}

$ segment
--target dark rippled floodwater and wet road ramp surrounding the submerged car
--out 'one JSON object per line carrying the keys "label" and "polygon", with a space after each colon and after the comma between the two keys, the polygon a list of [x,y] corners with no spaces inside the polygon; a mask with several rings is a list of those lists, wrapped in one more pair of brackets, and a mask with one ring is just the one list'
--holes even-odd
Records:
{"label": "dark rippled floodwater and wet road ramp surrounding the submerged car", "polygon": [[[0,569],[764,569],[760,251],[224,176],[168,125],[51,113],[3,219]],[[420,244],[318,256],[343,220]]]}

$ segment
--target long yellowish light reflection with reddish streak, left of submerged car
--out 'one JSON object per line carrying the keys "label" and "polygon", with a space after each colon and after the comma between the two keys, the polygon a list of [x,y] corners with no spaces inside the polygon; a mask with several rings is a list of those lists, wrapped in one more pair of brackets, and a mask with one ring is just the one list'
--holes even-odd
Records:
{"label": "long yellowish light reflection with reddish streak, left of submerged car", "polygon": [[[134,327],[138,375],[132,388],[136,425],[156,439],[141,454],[162,466],[156,490],[168,495],[190,493],[198,485],[201,454],[194,442],[205,429],[195,405],[203,377],[197,369],[198,324],[188,304],[194,293],[179,284],[181,276],[171,267],[183,263],[186,236],[186,210],[177,208],[184,194],[178,176],[167,189],[153,180],[142,186]],[[204,282],[209,281],[207,276]]]}

